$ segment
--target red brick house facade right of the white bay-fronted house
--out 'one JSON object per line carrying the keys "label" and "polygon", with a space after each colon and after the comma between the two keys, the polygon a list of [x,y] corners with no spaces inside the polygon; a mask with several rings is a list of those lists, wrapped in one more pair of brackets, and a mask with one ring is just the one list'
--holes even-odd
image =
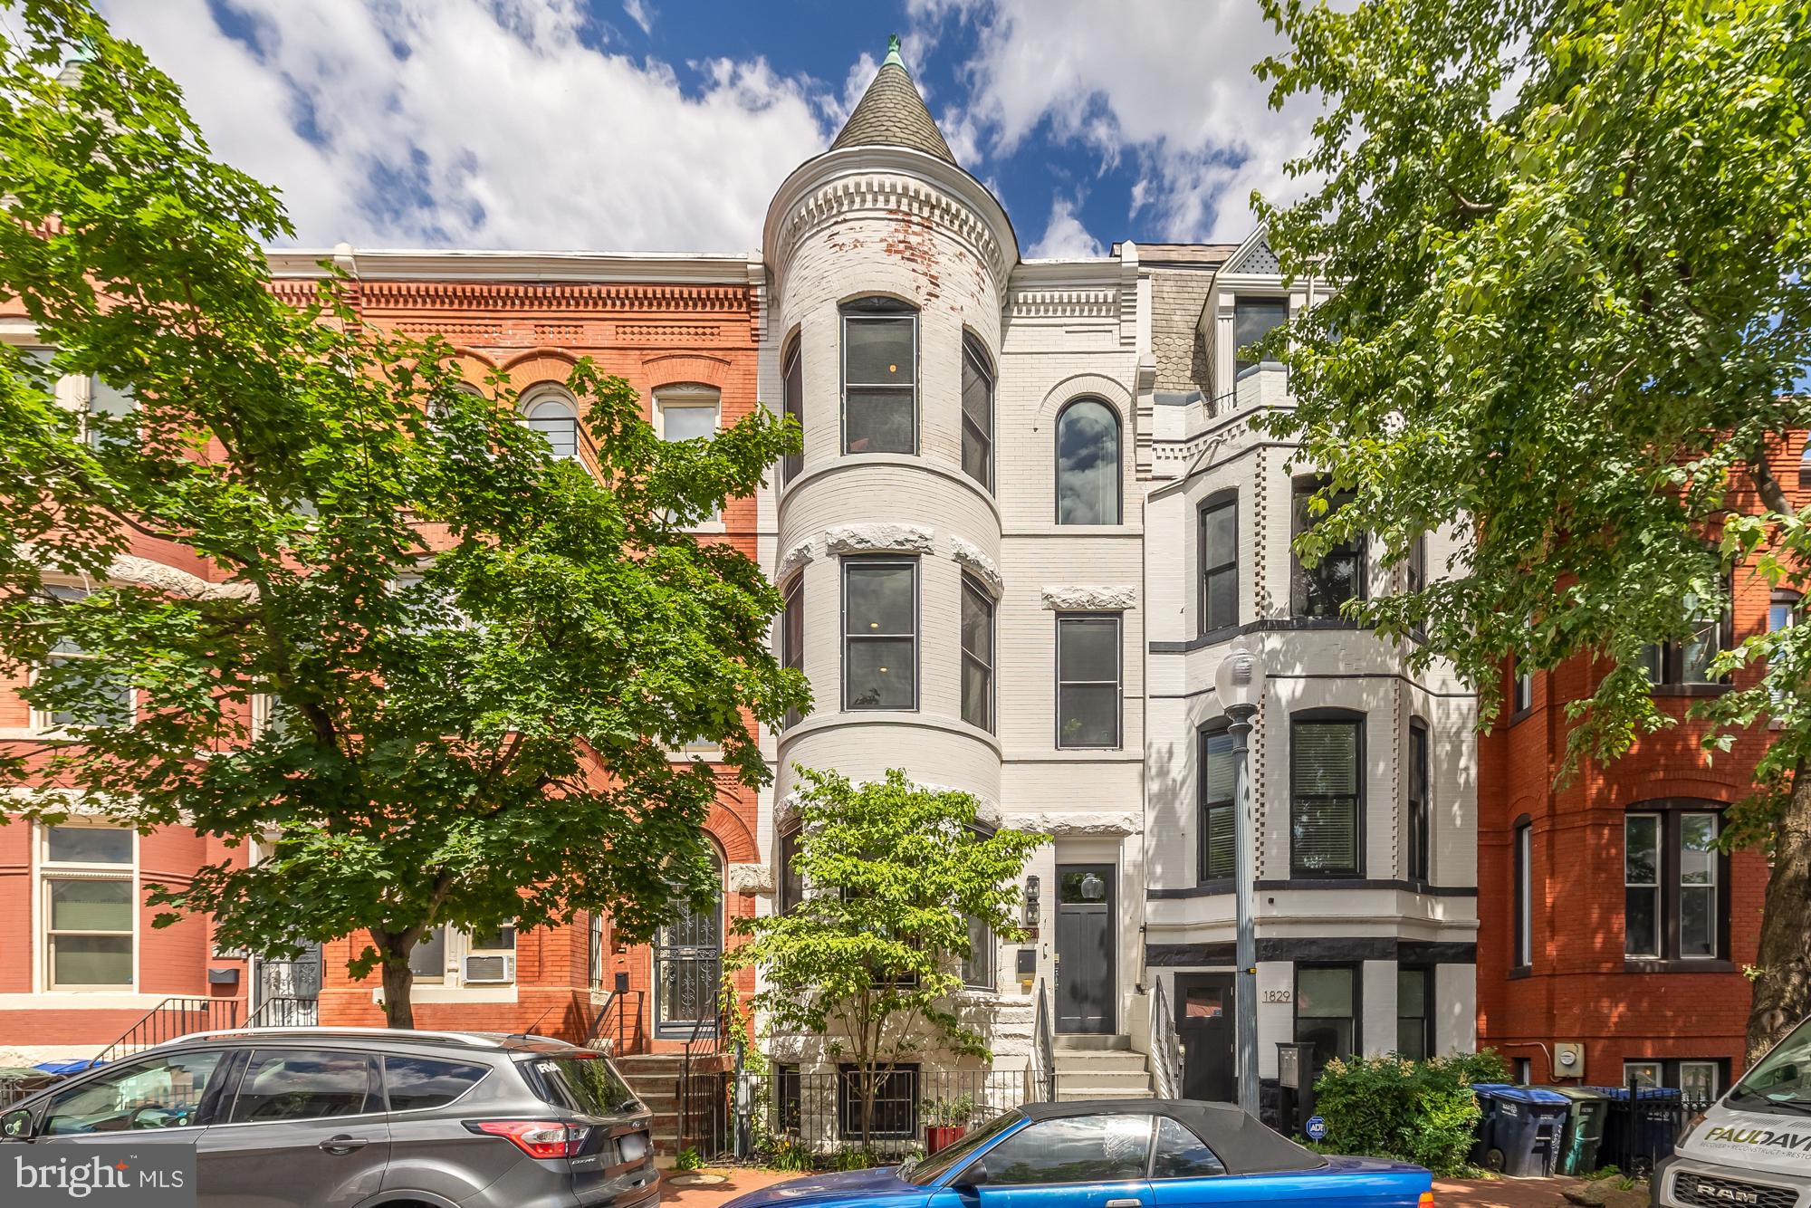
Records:
{"label": "red brick house facade right of the white bay-fronted house", "polygon": [[[1777,473],[1797,482],[1800,442]],[[1784,456],[1791,453],[1791,456]],[[1742,500],[1737,502],[1742,505]],[[1744,569],[1733,574],[1735,641],[1764,632],[1771,592]],[[1478,1041],[1527,1059],[1534,1081],[1572,1081],[1554,1069],[1557,1043],[1583,1043],[1583,1083],[1621,1085],[1624,1061],[1717,1061],[1717,1087],[1742,1069],[1749,989],[1768,864],[1758,851],[1720,862],[1719,951],[1710,960],[1624,958],[1624,819],[1648,802],[1691,801],[1715,810],[1751,791],[1764,728],[1708,761],[1704,724],[1644,735],[1610,766],[1586,764],[1554,786],[1567,746],[1565,705],[1595,686],[1586,659],[1534,676],[1532,706],[1498,717],[1480,741],[1478,768]],[[1505,701],[1512,701],[1505,674]],[[1659,688],[1661,706],[1684,719],[1710,685]],[[1713,802],[1697,806],[1695,802]],[[1516,953],[1516,842],[1528,828],[1528,954]],[[1672,1076],[1672,1067],[1668,1067]]]}

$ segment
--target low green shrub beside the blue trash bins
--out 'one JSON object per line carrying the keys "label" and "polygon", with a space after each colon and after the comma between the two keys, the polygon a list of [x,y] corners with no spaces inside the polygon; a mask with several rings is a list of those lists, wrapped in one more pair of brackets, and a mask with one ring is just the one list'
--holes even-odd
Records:
{"label": "low green shrub beside the blue trash bins", "polygon": [[1326,1148],[1394,1157],[1436,1175],[1460,1174],[1480,1116],[1472,1083],[1501,1081],[1505,1074],[1503,1059],[1490,1050],[1431,1061],[1327,1061],[1315,1083],[1315,1110],[1327,1121]]}

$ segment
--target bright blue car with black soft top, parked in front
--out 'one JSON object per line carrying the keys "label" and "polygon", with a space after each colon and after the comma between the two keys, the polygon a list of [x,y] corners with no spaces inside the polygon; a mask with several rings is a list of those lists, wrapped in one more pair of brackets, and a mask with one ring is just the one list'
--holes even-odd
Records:
{"label": "bright blue car with black soft top, parked in front", "polygon": [[945,1150],[779,1183],[724,1208],[1186,1208],[1313,1203],[1433,1208],[1420,1166],[1322,1157],[1235,1107],[1030,1103]]}

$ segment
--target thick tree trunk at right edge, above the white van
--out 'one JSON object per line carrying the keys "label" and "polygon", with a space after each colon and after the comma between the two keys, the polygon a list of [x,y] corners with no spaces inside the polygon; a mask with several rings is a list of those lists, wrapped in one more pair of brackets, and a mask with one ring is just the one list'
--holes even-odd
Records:
{"label": "thick tree trunk at right edge, above the white van", "polygon": [[1773,873],[1760,913],[1748,1065],[1811,1014],[1811,768],[1793,770],[1793,795],[1773,824]]}

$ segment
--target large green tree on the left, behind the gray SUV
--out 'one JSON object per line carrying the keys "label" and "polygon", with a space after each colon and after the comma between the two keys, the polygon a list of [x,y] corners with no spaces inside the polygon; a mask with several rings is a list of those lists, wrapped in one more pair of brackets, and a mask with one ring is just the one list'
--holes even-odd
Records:
{"label": "large green tree on the left, behind the gray SUV", "polygon": [[[27,817],[266,840],[154,904],[293,954],[364,933],[411,1025],[409,953],[610,911],[643,938],[704,893],[750,719],[802,706],[768,650],[779,594],[683,525],[757,487],[793,433],[764,409],[663,444],[581,362],[587,462],[516,424],[438,339],[359,322],[337,283],[277,301],[275,196],[216,163],[177,89],[81,4],[0,42],[0,290],[54,348],[0,351],[0,670],[63,719],[13,744]],[[58,76],[71,60],[80,71]],[[72,415],[60,375],[130,406]],[[130,551],[190,551],[197,574]],[[94,585],[80,590],[58,585]],[[252,732],[254,699],[275,724]]]}

